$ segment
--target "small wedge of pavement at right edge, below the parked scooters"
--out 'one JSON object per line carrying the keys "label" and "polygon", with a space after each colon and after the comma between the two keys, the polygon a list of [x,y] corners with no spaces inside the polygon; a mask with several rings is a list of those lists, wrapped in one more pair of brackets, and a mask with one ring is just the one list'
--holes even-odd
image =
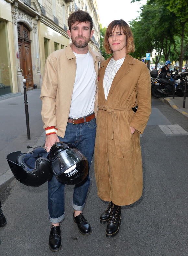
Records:
{"label": "small wedge of pavement at right edge, below the parked scooters", "polygon": [[161,100],[182,115],[188,117],[188,97],[186,97],[185,108],[183,108],[184,97],[174,97],[174,99],[173,97],[168,97]]}

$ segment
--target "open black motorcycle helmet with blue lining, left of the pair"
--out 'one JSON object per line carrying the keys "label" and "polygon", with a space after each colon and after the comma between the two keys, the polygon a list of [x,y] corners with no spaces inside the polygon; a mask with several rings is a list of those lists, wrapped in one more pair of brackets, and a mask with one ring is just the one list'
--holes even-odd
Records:
{"label": "open black motorcycle helmet with blue lining, left of the pair", "polygon": [[43,147],[30,153],[12,152],[6,159],[15,178],[27,186],[40,186],[52,179],[49,155]]}

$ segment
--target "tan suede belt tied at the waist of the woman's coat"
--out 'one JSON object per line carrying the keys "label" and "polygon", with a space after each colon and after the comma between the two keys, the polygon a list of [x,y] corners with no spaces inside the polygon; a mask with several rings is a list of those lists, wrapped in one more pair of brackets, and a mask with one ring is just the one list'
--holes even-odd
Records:
{"label": "tan suede belt tied at the waist of the woman's coat", "polygon": [[[107,111],[107,113],[109,113],[113,119],[113,123],[111,125],[111,134],[110,134],[110,138],[113,139],[113,135],[115,136],[115,148],[116,148],[116,152],[118,155],[118,158],[123,158],[123,150],[122,150],[122,146],[121,146],[121,140],[120,140],[120,130],[119,130],[119,122],[117,119],[117,115],[116,115],[116,111],[132,111],[132,108],[129,109],[112,109],[109,108],[108,106],[103,106],[103,107],[98,107],[99,110],[104,110]],[[115,129],[114,129],[115,127]]]}

